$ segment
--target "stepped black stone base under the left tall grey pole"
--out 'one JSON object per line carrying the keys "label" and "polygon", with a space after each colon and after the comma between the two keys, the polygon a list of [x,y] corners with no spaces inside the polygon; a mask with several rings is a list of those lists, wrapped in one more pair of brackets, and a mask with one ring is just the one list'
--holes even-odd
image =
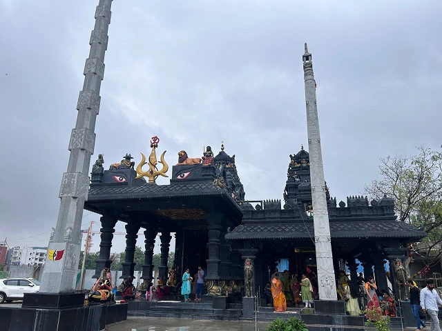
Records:
{"label": "stepped black stone base under the left tall grey pole", "polygon": [[[81,299],[81,301],[80,301]],[[125,321],[128,305],[84,305],[84,293],[25,294],[22,307],[0,306],[1,331],[99,331]]]}

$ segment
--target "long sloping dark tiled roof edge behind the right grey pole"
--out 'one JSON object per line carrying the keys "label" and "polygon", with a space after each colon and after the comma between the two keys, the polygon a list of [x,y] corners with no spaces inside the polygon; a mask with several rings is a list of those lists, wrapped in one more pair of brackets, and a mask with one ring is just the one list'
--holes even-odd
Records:
{"label": "long sloping dark tiled roof edge behind the right grey pole", "polygon": [[[400,221],[330,221],[332,239],[421,239],[427,234],[423,229]],[[376,229],[376,230],[373,230]],[[226,239],[308,239],[314,237],[312,221],[295,223],[242,223],[226,234]]]}

